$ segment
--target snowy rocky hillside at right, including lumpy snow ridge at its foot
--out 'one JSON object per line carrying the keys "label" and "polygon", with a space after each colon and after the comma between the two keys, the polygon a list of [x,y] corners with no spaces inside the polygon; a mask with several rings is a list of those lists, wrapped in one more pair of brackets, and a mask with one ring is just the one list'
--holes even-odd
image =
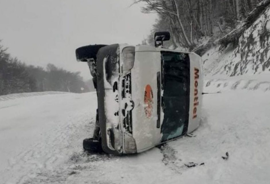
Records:
{"label": "snowy rocky hillside at right, including lumpy snow ridge at its foot", "polygon": [[270,90],[270,7],[242,34],[238,46],[203,56],[204,91]]}

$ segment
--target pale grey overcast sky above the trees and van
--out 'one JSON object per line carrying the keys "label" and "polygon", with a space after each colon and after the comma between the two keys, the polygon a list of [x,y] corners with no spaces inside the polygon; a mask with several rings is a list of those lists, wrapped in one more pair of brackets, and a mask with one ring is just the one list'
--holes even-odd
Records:
{"label": "pale grey overcast sky above the trees and van", "polygon": [[155,14],[132,0],[0,0],[0,39],[12,57],[46,67],[53,63],[91,78],[75,49],[88,44],[139,44]]}

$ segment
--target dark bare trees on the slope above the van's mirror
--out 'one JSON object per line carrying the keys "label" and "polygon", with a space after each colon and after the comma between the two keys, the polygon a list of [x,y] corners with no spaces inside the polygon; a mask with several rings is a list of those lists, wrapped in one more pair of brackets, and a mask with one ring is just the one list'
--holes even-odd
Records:
{"label": "dark bare trees on the slope above the van's mirror", "polygon": [[160,15],[160,23],[166,24],[174,47],[192,50],[202,37],[224,36],[234,30],[239,21],[244,20],[261,1],[134,0],[134,3],[144,3],[143,13]]}

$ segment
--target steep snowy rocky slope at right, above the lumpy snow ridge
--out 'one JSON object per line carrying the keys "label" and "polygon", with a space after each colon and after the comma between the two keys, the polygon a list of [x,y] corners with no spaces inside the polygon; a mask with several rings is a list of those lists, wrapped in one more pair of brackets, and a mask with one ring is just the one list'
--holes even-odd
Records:
{"label": "steep snowy rocky slope at right, above the lumpy snow ridge", "polygon": [[219,47],[203,55],[206,75],[227,76],[270,71],[270,7],[242,34],[235,49]]}

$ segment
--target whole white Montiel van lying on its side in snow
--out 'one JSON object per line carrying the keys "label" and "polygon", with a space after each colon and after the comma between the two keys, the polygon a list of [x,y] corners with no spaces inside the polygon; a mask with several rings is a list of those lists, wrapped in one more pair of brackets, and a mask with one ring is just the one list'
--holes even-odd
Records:
{"label": "whole white Montiel van lying on its side in snow", "polygon": [[156,47],[112,44],[76,50],[77,60],[88,62],[97,83],[101,136],[84,140],[86,150],[101,142],[108,154],[139,153],[199,126],[201,57],[162,48],[169,39],[168,32],[158,32]]}

